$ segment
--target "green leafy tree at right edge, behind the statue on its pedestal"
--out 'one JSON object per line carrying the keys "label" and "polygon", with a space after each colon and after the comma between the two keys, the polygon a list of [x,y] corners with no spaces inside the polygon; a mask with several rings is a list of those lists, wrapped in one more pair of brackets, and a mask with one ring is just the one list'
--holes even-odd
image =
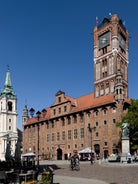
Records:
{"label": "green leafy tree at right edge, behind the statue on its pedestal", "polygon": [[130,149],[138,150],[138,100],[131,99],[128,112],[122,117],[118,126],[122,126],[124,122],[127,122],[129,126]]}

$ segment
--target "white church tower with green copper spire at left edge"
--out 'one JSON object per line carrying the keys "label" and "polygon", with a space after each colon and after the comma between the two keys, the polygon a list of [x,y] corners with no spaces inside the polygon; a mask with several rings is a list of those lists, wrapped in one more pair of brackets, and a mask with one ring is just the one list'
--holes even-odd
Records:
{"label": "white church tower with green copper spire at left edge", "polygon": [[11,155],[15,153],[17,132],[17,97],[13,91],[10,70],[7,69],[4,89],[0,93],[0,160],[5,160],[7,143]]}

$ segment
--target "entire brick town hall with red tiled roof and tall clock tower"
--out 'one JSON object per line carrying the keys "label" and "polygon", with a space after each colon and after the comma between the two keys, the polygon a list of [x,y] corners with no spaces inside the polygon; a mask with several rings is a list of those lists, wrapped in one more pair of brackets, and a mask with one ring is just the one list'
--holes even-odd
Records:
{"label": "entire brick town hall with red tiled roof and tall clock tower", "polygon": [[117,14],[94,27],[94,92],[73,98],[58,91],[55,102],[34,116],[34,109],[29,111],[25,105],[23,153],[46,159],[67,159],[88,147],[104,157],[121,153],[121,129],[116,122],[130,105],[128,41],[128,31]]}

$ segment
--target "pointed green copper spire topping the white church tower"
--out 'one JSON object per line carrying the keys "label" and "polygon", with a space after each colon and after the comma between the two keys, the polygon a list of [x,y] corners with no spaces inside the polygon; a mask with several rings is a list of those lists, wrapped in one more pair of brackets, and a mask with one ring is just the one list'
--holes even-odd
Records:
{"label": "pointed green copper spire topping the white church tower", "polygon": [[1,93],[1,95],[10,95],[11,97],[15,97],[15,93],[12,89],[12,84],[11,84],[11,77],[10,77],[10,70],[8,68],[7,72],[6,72],[6,79],[5,79],[5,84],[4,84],[4,89]]}

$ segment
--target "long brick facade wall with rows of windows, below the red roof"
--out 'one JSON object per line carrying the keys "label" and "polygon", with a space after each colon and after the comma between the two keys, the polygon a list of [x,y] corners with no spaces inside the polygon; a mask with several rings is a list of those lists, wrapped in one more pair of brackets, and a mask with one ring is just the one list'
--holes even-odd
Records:
{"label": "long brick facade wall with rows of windows, below the red roof", "polygon": [[[57,159],[57,149],[60,147],[62,159],[66,159],[75,150],[91,147],[91,141],[92,149],[97,154],[106,156],[107,153],[121,152],[120,128],[116,123],[124,113],[122,103],[112,103],[72,115],[50,118],[39,124],[39,154],[45,159]],[[96,127],[95,131],[92,130],[92,140],[91,132],[88,131],[89,123],[91,127]],[[24,129],[24,152],[29,151],[38,153],[37,124],[27,125]]]}

